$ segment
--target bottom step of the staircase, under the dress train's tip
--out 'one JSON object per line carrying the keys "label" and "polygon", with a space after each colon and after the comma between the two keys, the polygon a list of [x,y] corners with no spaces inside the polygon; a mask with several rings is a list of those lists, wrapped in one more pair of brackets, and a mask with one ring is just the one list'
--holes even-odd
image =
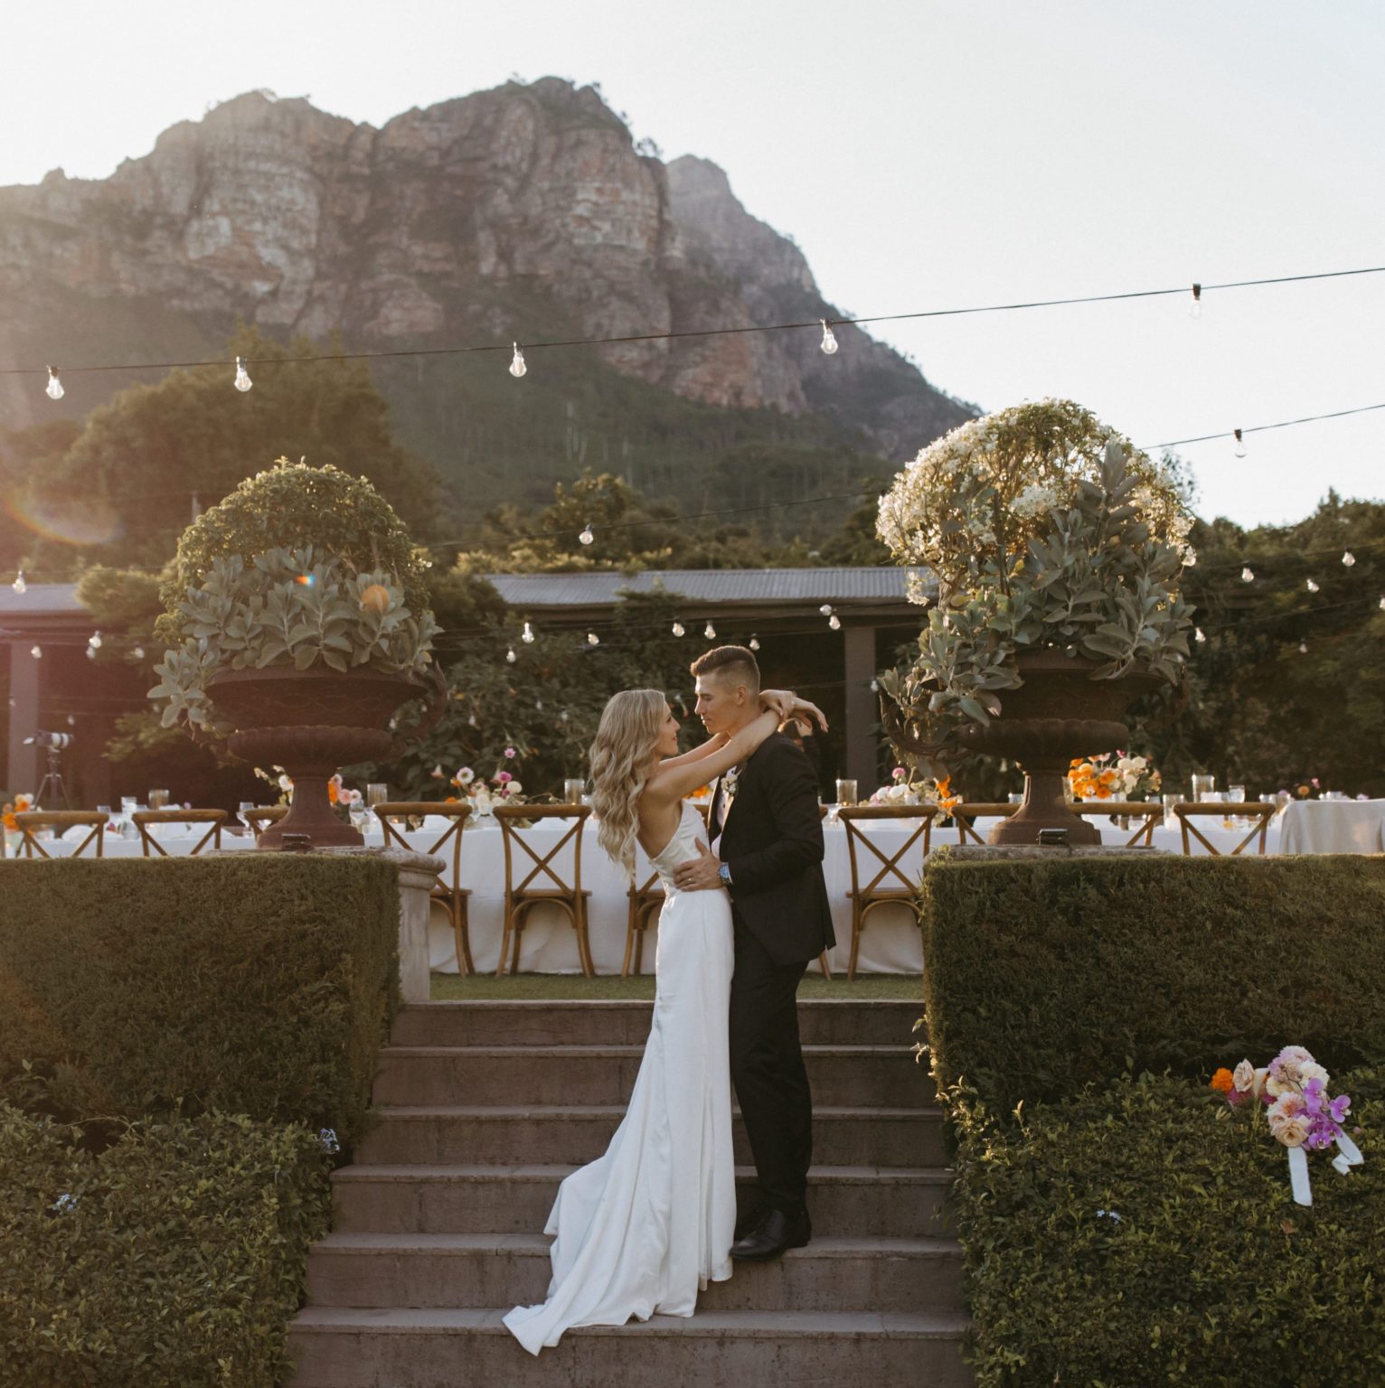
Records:
{"label": "bottom step of the staircase, under the dress train's tip", "polygon": [[939,1314],[703,1312],[568,1331],[531,1356],[504,1309],[310,1306],[289,1332],[293,1388],[968,1388],[965,1319]]}

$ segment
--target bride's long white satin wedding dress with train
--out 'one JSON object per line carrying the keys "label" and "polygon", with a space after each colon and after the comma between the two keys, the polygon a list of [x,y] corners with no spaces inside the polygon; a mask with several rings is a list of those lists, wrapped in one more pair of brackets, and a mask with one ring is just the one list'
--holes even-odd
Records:
{"label": "bride's long white satin wedding dress with train", "polygon": [[504,1317],[532,1355],[570,1326],[690,1316],[697,1292],[731,1276],[731,902],[724,891],[679,892],[672,880],[678,863],[697,856],[699,838],[702,816],[685,804],[677,833],[650,859],[667,894],[654,1024],[610,1146],[558,1188],[546,1228],[557,1235],[547,1301]]}

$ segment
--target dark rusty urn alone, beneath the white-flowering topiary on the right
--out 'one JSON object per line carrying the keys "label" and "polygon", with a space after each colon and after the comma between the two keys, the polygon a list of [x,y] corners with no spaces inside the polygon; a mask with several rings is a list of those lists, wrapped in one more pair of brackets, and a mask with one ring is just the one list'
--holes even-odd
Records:
{"label": "dark rusty urn alone, beneath the white-flowering topiary on the right", "polygon": [[1125,709],[1163,682],[1131,670],[1093,680],[1096,661],[1061,651],[1015,657],[1024,684],[1006,690],[1002,713],[989,725],[970,723],[959,741],[970,751],[1018,762],[1024,804],[986,836],[992,844],[1036,844],[1040,829],[1065,829],[1070,844],[1100,844],[1096,827],[1068,809],[1063,786],[1074,756],[1113,752],[1129,741]]}

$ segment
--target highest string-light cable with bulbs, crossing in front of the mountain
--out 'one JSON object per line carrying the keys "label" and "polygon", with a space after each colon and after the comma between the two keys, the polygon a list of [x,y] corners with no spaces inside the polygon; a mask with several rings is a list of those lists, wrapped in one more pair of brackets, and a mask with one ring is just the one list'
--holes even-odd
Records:
{"label": "highest string-light cable with bulbs, crossing in front of the mountain", "polygon": [[[1229,289],[1259,289],[1272,285],[1297,285],[1310,280],[1327,280],[1327,279],[1343,279],[1356,275],[1381,275],[1385,273],[1385,265],[1363,265],[1356,269],[1334,269],[1334,271],[1316,271],[1303,275],[1272,275],[1260,279],[1231,279],[1222,280],[1221,283],[1196,283],[1193,286],[1195,304],[1200,305],[1203,303],[1203,296],[1211,290],[1229,290]],[[688,328],[679,329],[677,332],[663,332],[663,333],[624,333],[614,337],[565,337],[554,339],[551,341],[526,341],[521,347],[520,343],[511,340],[506,343],[478,343],[467,347],[400,347],[400,348],[386,348],[382,351],[354,351],[354,353],[324,353],[321,355],[311,357],[263,357],[263,358],[213,358],[203,361],[158,361],[158,362],[101,362],[101,364],[86,364],[78,366],[64,366],[61,368],[69,376],[71,375],[86,375],[103,371],[183,371],[200,366],[232,366],[236,371],[236,386],[239,390],[247,390],[247,383],[240,383],[242,373],[246,372],[249,366],[278,366],[278,365],[293,365],[293,364],[308,364],[308,362],[325,362],[325,361],[378,361],[386,358],[408,358],[408,357],[460,357],[481,353],[511,353],[510,359],[510,373],[515,378],[524,376],[526,372],[526,364],[524,354],[525,351],[533,353],[549,348],[561,347],[617,347],[629,343],[646,343],[646,341],[678,341],[682,339],[696,339],[696,337],[731,337],[743,333],[778,333],[778,332],[797,332],[803,329],[821,330],[824,335],[824,350],[831,354],[831,347],[828,346],[829,333],[834,326],[860,326],[861,323],[895,323],[906,322],[910,319],[924,319],[924,318],[961,318],[972,314],[1009,314],[1020,312],[1025,310],[1035,308],[1060,308],[1074,304],[1111,304],[1121,303],[1127,300],[1138,298],[1161,298],[1172,294],[1186,294],[1189,291],[1188,285],[1178,285],[1172,289],[1136,289],[1124,290],[1114,294],[1068,294],[1060,298],[1031,298],[1031,300],[1017,300],[1014,303],[1004,304],[971,304],[961,308],[924,308],[907,314],[870,314],[861,316],[840,316],[840,318],[808,318],[797,322],[789,323],[746,323],[735,328]],[[835,339],[831,339],[835,343]],[[54,400],[61,398],[63,384],[60,380],[58,366],[44,365],[44,366],[4,366],[0,368],[0,376],[42,376],[46,375],[49,379],[49,394]],[[246,382],[249,376],[246,375]]]}

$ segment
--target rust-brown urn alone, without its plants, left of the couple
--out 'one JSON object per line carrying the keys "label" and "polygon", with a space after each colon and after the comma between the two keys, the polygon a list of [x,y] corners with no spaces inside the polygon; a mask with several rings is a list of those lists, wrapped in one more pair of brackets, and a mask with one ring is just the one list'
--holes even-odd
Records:
{"label": "rust-brown urn alone, without its plants, left of the couple", "polygon": [[[278,849],[286,834],[303,847],[358,847],[360,833],[332,809],[326,783],[351,762],[399,756],[426,736],[447,706],[436,666],[432,677],[389,675],[365,666],[339,673],[322,666],[225,670],[207,684],[218,715],[235,726],[224,752],[293,777],[289,813],[260,836],[257,848]],[[390,719],[411,700],[428,700],[422,719],[396,736]]]}

